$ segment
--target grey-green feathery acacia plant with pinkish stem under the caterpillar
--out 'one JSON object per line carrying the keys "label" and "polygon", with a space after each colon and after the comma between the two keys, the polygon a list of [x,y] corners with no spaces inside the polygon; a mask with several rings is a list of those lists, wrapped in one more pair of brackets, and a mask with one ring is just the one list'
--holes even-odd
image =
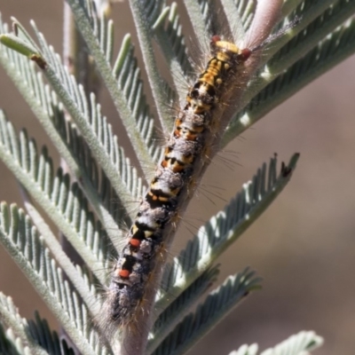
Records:
{"label": "grey-green feathery acacia plant with pinkish stem under the caterpillar", "polygon": [[[131,0],[142,69],[156,108],[151,114],[130,35],[124,36],[118,54],[113,53],[110,5],[105,0],[67,0],[64,23],[71,25],[65,38],[67,67],[35,22],[31,22],[34,37],[16,19],[12,19],[13,32],[0,23],[0,63],[62,159],[61,166],[54,167],[48,150],[39,151],[36,140],[28,138],[26,130],[16,132],[1,112],[0,157],[20,182],[24,209],[1,204],[0,241],[65,334],[59,339],[38,313],[35,320],[21,318],[12,299],[1,294],[1,353],[182,354],[259,288],[260,279],[246,268],[200,301],[216,281],[217,257],[288,184],[298,154],[281,168],[276,157],[264,164],[225,209],[202,225],[185,249],[165,264],[176,225],[170,228],[150,275],[139,321],[134,316],[134,327],[128,325],[106,336],[109,319],[103,319],[102,303],[109,283],[106,275],[125,238],[121,226],[132,225],[131,201],[144,196],[149,177],[162,159],[161,132],[169,134],[174,122],[169,106],[184,105],[181,83],[193,83],[201,70],[186,46],[180,7],[185,6],[201,51],[209,52],[204,43],[218,29],[218,35],[255,49],[241,80],[233,84],[233,95],[221,103],[223,130],[213,137],[203,169],[193,177],[196,186],[218,149],[355,51],[355,23],[349,20],[355,2],[351,0],[185,0],[178,5]],[[174,74],[170,78],[156,64],[156,48]],[[140,166],[132,166],[101,114],[96,98],[103,85]],[[180,219],[188,200],[179,208]],[[62,248],[49,221],[70,248]],[[74,254],[81,263],[73,261]],[[301,332],[263,354],[296,355],[320,343],[313,332]],[[254,344],[243,345],[233,354],[256,352]]]}

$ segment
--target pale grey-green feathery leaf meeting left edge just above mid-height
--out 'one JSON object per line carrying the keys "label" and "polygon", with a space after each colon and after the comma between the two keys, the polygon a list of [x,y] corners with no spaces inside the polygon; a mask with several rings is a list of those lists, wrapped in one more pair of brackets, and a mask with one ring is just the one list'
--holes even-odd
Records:
{"label": "pale grey-green feathery leaf meeting left edge just above mid-height", "polygon": [[43,148],[38,156],[36,144],[22,130],[17,138],[12,124],[0,112],[0,158],[26,187],[48,217],[77,249],[101,284],[105,284],[104,265],[110,243],[100,224],[95,222],[88,202],[77,183],[59,169],[53,178],[51,158]]}

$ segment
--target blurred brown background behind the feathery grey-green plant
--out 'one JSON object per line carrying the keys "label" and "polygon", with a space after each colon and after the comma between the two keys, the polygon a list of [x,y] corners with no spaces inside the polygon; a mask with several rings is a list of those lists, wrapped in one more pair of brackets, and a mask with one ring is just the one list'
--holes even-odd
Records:
{"label": "blurred brown background behind the feathery grey-green plant", "polygon": [[[47,41],[61,53],[62,2],[0,0],[0,11],[4,21],[15,16],[28,28],[28,21],[36,20]],[[114,5],[113,18],[117,53],[123,34],[134,31],[127,1]],[[134,42],[138,53],[136,37]],[[27,127],[38,146],[51,146],[1,67],[0,84],[0,106],[15,128]],[[145,89],[149,91],[147,84]],[[185,214],[172,255],[177,255],[202,221],[222,209],[274,153],[285,162],[291,154],[301,154],[285,190],[220,260],[219,282],[249,265],[264,278],[262,291],[249,296],[190,354],[227,354],[242,343],[259,343],[264,350],[302,329],[315,330],[325,338],[316,354],[354,353],[354,92],[352,57],[274,109],[228,146],[221,153],[224,159],[217,157],[211,164],[203,179],[204,188],[196,193]],[[99,101],[121,138],[111,100],[103,93]],[[52,147],[50,150],[51,156],[58,158]],[[230,163],[225,163],[225,157]],[[21,204],[12,174],[2,163],[0,171],[0,201]],[[220,193],[221,198],[214,198],[214,193]],[[32,318],[37,309],[58,327],[2,248],[0,290],[12,296],[22,316]]]}

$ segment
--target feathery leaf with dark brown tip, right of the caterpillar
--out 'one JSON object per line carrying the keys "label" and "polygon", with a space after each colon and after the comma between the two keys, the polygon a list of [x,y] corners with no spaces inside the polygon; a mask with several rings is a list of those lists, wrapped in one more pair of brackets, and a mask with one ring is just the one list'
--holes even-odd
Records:
{"label": "feathery leaf with dark brown tip, right of the caterpillar", "polygon": [[268,172],[264,163],[252,181],[243,186],[241,193],[200,228],[187,247],[166,267],[162,279],[164,287],[158,293],[155,304],[157,312],[162,312],[256,221],[288,184],[298,156],[294,154],[288,166],[282,164],[279,176],[276,157],[272,158]]}

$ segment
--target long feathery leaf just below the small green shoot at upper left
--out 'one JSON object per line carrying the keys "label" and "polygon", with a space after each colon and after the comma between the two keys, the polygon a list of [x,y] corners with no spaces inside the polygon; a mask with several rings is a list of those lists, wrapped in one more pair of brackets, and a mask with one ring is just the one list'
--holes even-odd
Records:
{"label": "long feathery leaf just below the small green shoot at upper left", "polygon": [[[1,20],[0,32],[8,32],[6,24],[3,24]],[[0,51],[0,63],[36,114],[61,158],[67,162],[69,169],[81,183],[83,192],[114,242],[114,238],[120,234],[115,221],[121,220],[121,215],[126,215],[127,210],[122,210],[123,206],[122,209],[118,209],[116,205],[113,205],[112,201],[118,201],[118,197],[114,194],[104,174],[99,174],[97,164],[86,142],[78,134],[73,123],[65,119],[63,107],[58,102],[56,94],[50,90],[48,85],[44,85],[43,76],[41,73],[36,73],[34,63],[5,46]],[[130,162],[124,158],[121,148],[119,152],[122,171],[130,170]],[[139,183],[140,180],[138,180]],[[142,187],[132,185],[130,188],[132,199],[137,200],[142,193]]]}

